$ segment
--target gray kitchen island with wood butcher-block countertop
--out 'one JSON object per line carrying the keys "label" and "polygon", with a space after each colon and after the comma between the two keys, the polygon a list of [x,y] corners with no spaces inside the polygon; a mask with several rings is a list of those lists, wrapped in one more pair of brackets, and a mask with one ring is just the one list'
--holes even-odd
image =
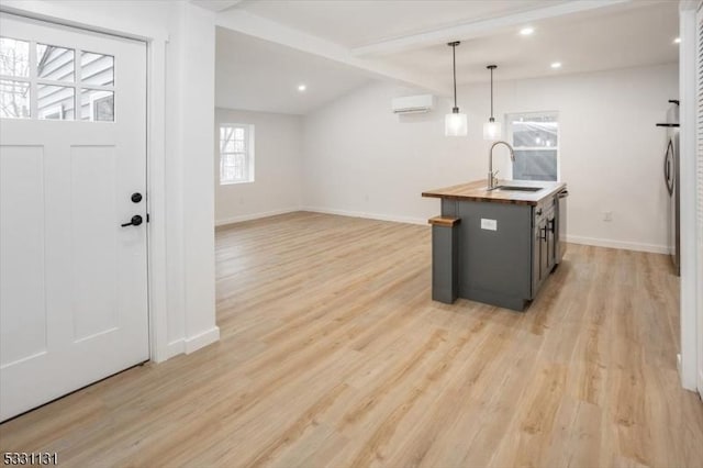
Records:
{"label": "gray kitchen island with wood butcher-block countertop", "polygon": [[475,181],[423,192],[439,198],[433,299],[457,297],[523,311],[563,255],[566,183]]}

